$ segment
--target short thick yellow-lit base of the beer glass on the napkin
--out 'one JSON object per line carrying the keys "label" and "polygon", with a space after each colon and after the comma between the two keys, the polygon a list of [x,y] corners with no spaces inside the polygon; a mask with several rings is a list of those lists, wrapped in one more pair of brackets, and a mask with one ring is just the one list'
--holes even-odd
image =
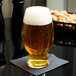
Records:
{"label": "short thick yellow-lit base of the beer glass on the napkin", "polygon": [[27,65],[30,68],[44,68],[49,64],[47,55],[29,55]]}

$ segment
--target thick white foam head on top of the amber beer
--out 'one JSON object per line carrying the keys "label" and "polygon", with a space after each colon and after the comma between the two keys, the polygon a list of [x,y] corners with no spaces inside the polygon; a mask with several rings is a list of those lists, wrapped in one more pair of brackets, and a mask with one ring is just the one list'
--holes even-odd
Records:
{"label": "thick white foam head on top of the amber beer", "polygon": [[52,22],[50,10],[43,6],[32,6],[25,10],[23,22],[29,25],[46,25]]}

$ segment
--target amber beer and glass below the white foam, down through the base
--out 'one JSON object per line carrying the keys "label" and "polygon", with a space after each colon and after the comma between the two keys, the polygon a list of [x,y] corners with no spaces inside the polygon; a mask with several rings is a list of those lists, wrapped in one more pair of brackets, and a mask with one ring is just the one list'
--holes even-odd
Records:
{"label": "amber beer and glass below the white foam, down through the base", "polygon": [[29,52],[27,65],[31,68],[43,68],[49,63],[46,53],[53,44],[54,31],[52,22],[44,23],[40,25],[23,22],[22,41]]}

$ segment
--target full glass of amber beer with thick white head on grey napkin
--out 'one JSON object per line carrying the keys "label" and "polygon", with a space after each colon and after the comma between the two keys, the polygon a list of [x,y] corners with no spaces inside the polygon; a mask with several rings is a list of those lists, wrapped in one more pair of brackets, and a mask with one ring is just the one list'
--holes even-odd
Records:
{"label": "full glass of amber beer with thick white head on grey napkin", "polygon": [[53,40],[50,10],[42,6],[28,7],[23,19],[22,41],[29,53],[29,67],[43,68],[49,64],[47,51],[51,48]]}

